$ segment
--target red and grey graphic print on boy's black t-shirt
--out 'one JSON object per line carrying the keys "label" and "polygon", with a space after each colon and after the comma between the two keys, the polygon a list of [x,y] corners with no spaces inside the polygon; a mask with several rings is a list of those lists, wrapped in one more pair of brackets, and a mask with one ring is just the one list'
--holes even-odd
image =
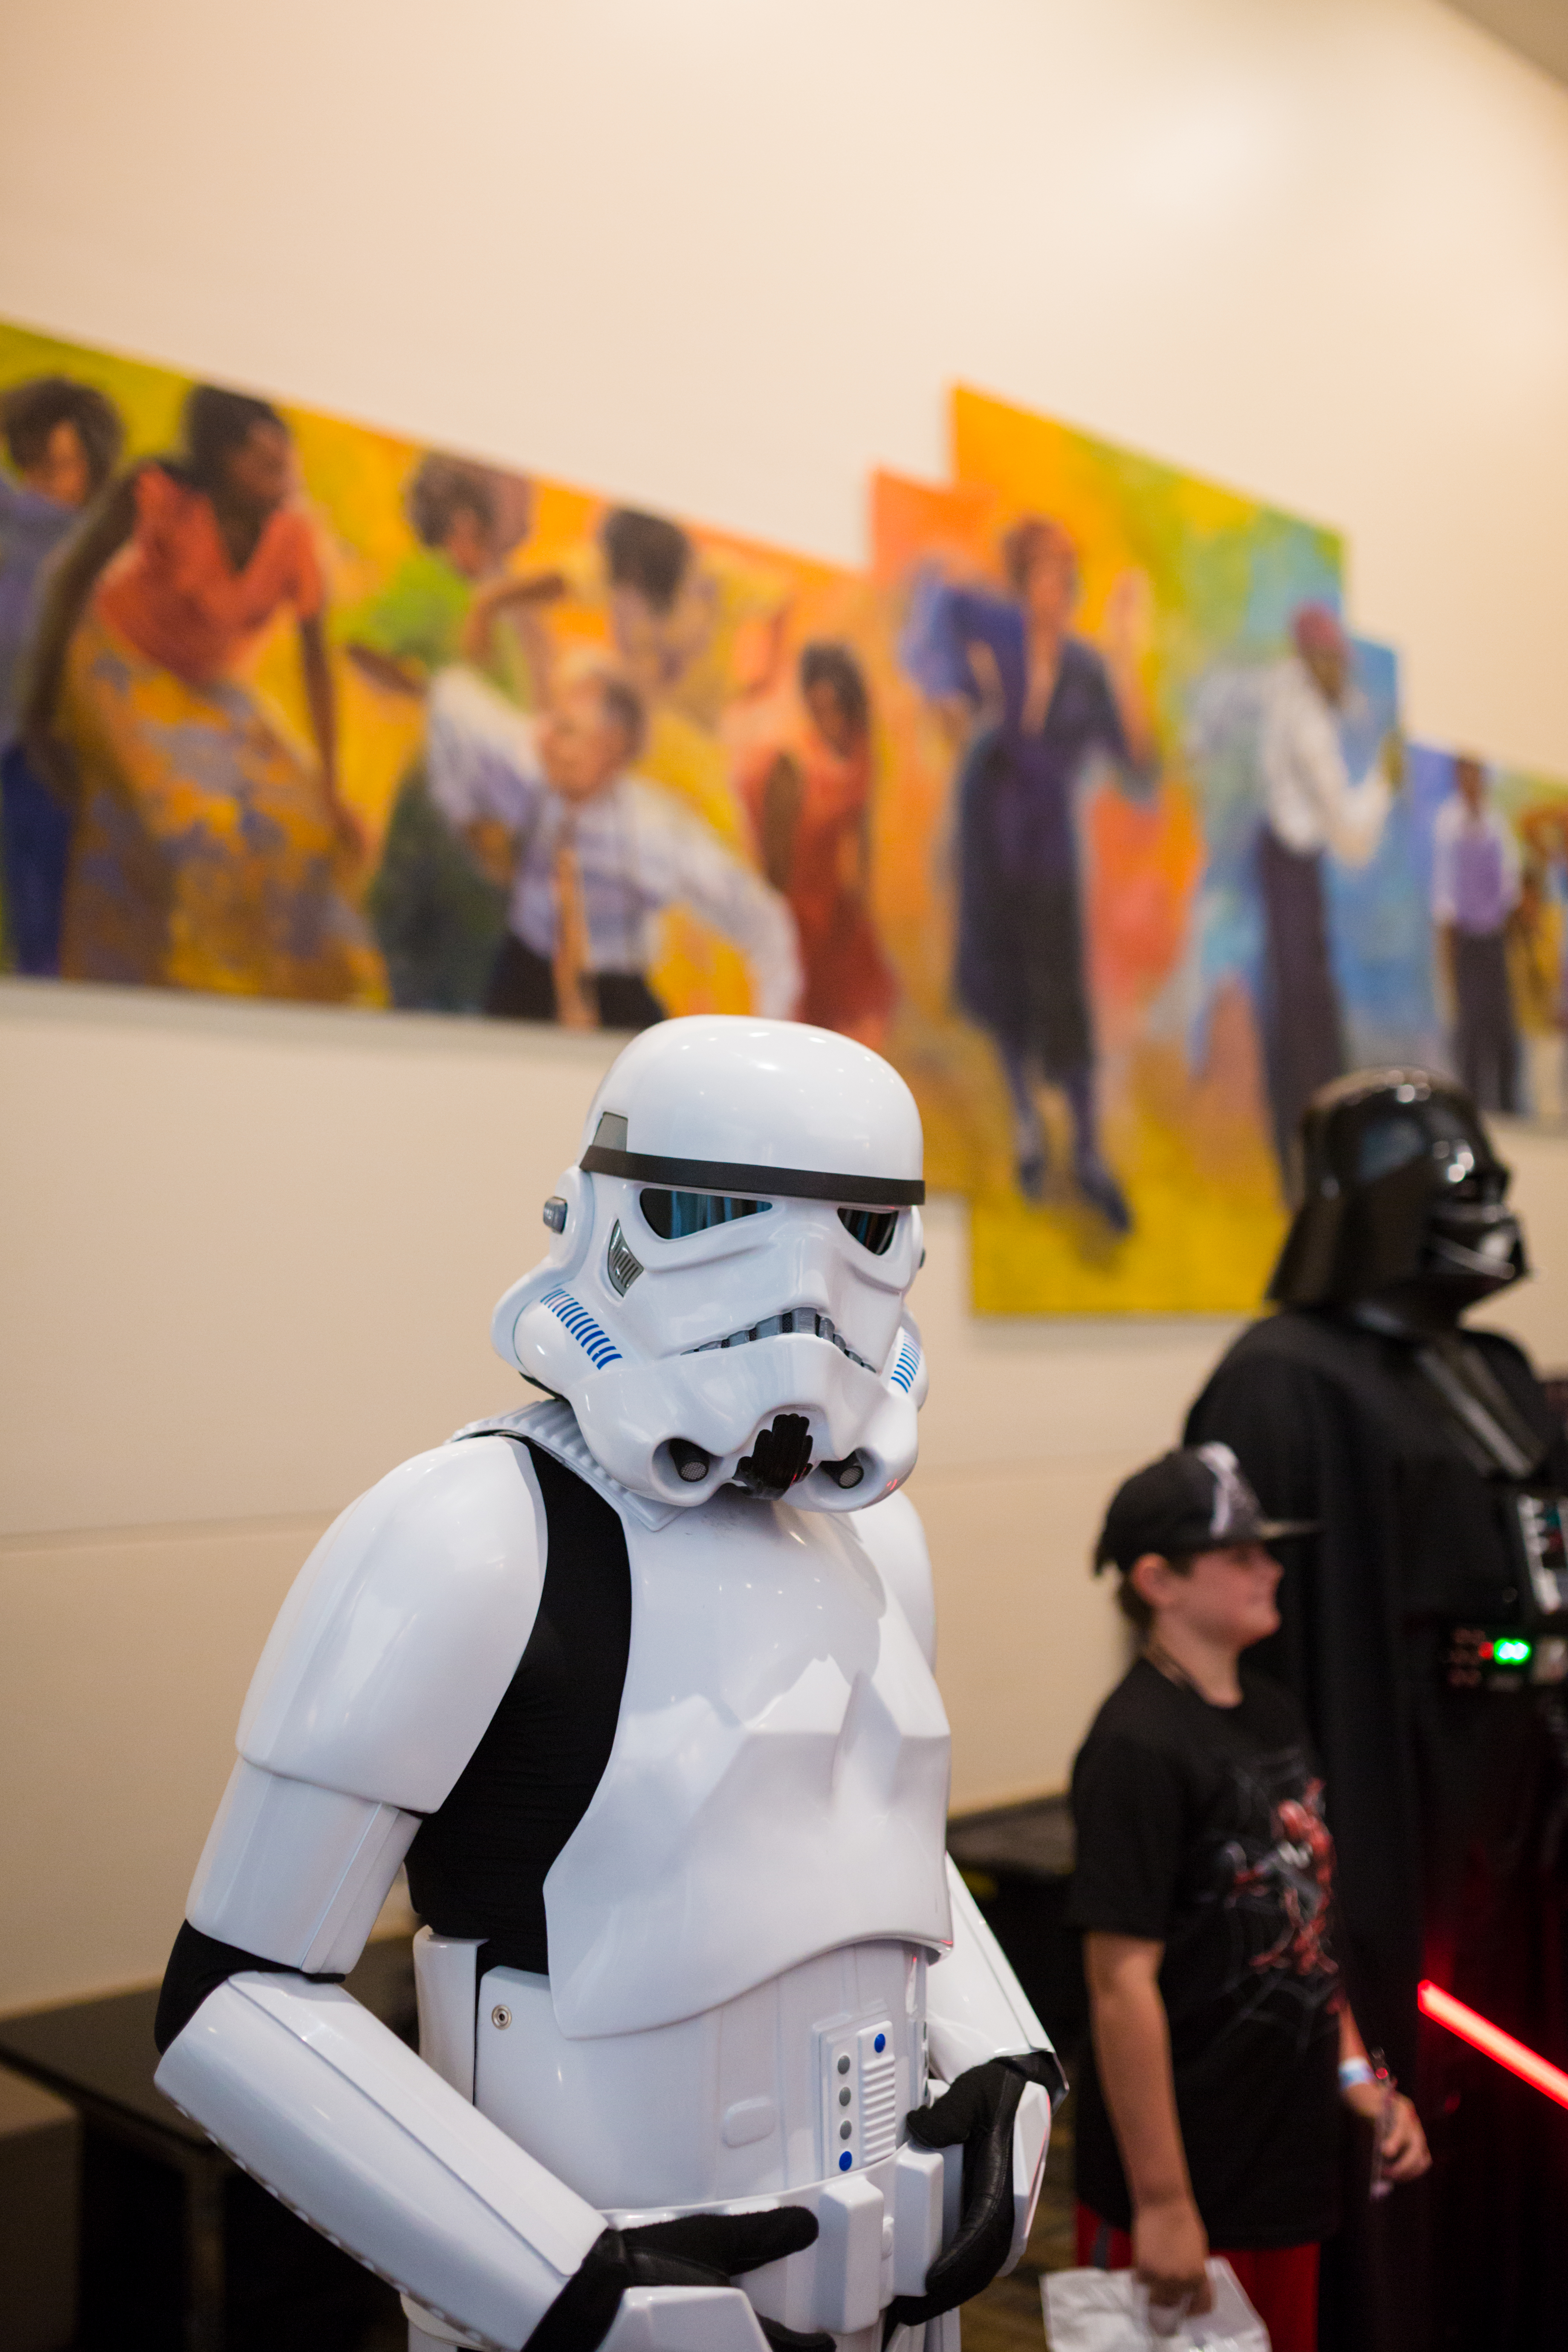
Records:
{"label": "red and grey graphic print on boy's black t-shirt", "polygon": [[1302,1748],[1229,1766],[1232,1835],[1213,1856],[1211,1900],[1229,1919],[1232,1966],[1220,1999],[1305,2039],[1338,1987],[1328,1947],[1333,1837],[1324,1783]]}

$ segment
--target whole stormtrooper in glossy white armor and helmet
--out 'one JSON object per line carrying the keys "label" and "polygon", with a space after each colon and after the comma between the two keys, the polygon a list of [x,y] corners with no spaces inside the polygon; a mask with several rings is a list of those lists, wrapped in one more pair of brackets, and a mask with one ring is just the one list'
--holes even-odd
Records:
{"label": "whole stormtrooper in glossy white armor and helmet", "polygon": [[[922,1197],[865,1047],[646,1030],[496,1308],[548,1397],[284,1602],[158,2082],[416,2352],[957,2352],[1023,2251],[1060,2070],[943,1853]],[[334,1983],[404,1856],[418,2058]]]}

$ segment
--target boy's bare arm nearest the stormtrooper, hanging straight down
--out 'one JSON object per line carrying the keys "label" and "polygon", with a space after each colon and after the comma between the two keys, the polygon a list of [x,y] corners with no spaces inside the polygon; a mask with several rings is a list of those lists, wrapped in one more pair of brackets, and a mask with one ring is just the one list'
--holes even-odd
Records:
{"label": "boy's bare arm nearest the stormtrooper, hanging straight down", "polygon": [[1133,2199],[1133,2267],[1150,2303],[1211,2305],[1208,2237],[1192,2201],[1175,2117],[1171,2027],[1159,1994],[1161,1943],[1084,1936],[1095,2065]]}

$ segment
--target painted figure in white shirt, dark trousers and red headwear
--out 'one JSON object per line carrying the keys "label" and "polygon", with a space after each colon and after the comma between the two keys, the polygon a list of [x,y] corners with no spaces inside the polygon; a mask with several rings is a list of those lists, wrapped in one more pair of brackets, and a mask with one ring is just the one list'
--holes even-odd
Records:
{"label": "painted figure in white shirt, dark trousers and red headwear", "polygon": [[1328,955],[1324,856],[1366,866],[1399,788],[1399,739],[1352,776],[1340,713],[1352,684],[1349,640],[1324,604],[1302,604],[1295,652],[1262,703],[1262,828],[1258,889],[1265,929],[1265,1063],[1274,1148],[1288,1171],[1307,1098],[1345,1070],[1340,993]]}

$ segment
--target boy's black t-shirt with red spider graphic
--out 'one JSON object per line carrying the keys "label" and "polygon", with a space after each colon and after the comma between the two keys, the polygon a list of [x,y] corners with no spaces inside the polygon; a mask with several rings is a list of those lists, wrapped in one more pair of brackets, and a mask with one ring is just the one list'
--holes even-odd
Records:
{"label": "boy's black t-shirt with red spider graphic", "polygon": [[[1182,2147],[1213,2246],[1333,2230],[1340,1973],[1324,1769],[1300,1708],[1241,1668],[1213,1708],[1138,1658],[1072,1771],[1072,1922],[1157,1943]],[[1079,2197],[1131,2199],[1093,2053],[1079,2072]]]}

